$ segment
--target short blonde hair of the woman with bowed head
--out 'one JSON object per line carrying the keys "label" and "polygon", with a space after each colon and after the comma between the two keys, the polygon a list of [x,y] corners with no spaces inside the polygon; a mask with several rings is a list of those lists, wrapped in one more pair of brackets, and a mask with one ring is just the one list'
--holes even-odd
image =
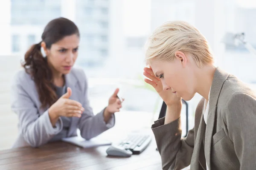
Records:
{"label": "short blonde hair of the woman with bowed head", "polygon": [[164,23],[153,32],[146,45],[145,61],[147,65],[152,59],[173,61],[175,51],[190,54],[200,68],[214,62],[206,38],[197,28],[184,21]]}

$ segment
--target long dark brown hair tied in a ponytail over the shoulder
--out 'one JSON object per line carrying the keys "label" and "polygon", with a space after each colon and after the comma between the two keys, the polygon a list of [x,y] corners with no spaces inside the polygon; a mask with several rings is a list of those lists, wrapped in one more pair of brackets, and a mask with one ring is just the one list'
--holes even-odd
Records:
{"label": "long dark brown hair tied in a ponytail over the shoulder", "polygon": [[[72,34],[77,34],[79,36],[77,26],[72,21],[61,17],[54,19],[47,24],[44,28],[44,33],[42,34],[42,41],[44,41],[46,47],[50,49],[52,44],[58,42],[65,36]],[[25,54],[25,61],[22,66],[35,82],[41,102],[41,108],[46,108],[55,103],[58,98],[55,93],[52,71],[49,68],[47,57],[43,57],[41,53],[41,42],[34,44],[29,48]]]}

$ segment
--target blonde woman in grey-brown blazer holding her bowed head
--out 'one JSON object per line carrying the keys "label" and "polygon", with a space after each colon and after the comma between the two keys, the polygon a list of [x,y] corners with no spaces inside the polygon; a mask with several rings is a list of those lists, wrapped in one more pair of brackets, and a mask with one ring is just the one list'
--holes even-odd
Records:
{"label": "blonde woman in grey-brown blazer holding her bowed head", "polygon": [[[205,37],[189,23],[168,22],[148,40],[145,82],[167,105],[152,130],[163,170],[253,170],[256,168],[256,94],[216,68]],[[195,127],[181,138],[181,98],[203,96]]]}

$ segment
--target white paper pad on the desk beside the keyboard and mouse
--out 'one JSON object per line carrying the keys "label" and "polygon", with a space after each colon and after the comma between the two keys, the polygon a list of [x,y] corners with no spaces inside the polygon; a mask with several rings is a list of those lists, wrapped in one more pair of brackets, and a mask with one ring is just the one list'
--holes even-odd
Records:
{"label": "white paper pad on the desk beside the keyboard and mouse", "polygon": [[61,139],[64,142],[72,143],[80,147],[88,148],[88,147],[98,147],[98,146],[106,146],[106,145],[111,145],[112,142],[109,142],[107,140],[102,140],[102,139],[90,139],[90,140],[85,140],[81,136],[74,136],[70,138],[62,138]]}

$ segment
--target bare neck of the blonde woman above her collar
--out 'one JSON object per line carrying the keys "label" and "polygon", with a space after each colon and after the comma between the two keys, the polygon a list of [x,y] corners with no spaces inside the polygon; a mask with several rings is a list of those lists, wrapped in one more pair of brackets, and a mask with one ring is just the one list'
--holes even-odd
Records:
{"label": "bare neck of the blonde woman above her collar", "polygon": [[212,86],[212,80],[214,77],[215,70],[215,66],[206,65],[203,68],[199,68],[197,71],[196,92],[207,100],[209,100],[209,92]]}

